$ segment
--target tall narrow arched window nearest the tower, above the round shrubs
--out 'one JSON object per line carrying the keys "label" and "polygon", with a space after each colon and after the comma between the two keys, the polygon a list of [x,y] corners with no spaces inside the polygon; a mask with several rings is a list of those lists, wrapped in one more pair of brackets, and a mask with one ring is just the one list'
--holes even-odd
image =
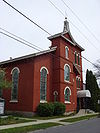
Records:
{"label": "tall narrow arched window nearest the tower, above the round shrubs", "polygon": [[40,70],[40,101],[46,101],[47,74],[47,68],[42,67]]}

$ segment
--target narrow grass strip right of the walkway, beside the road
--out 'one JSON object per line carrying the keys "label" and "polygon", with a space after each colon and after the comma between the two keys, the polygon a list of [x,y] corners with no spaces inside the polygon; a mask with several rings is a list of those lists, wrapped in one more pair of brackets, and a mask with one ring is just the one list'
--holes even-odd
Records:
{"label": "narrow grass strip right of the walkway, beside the road", "polygon": [[62,122],[77,122],[77,121],[81,121],[81,120],[86,120],[86,119],[90,119],[90,118],[94,118],[97,117],[97,114],[94,115],[86,115],[86,116],[81,116],[81,117],[77,117],[77,118],[69,118],[69,119],[65,119],[65,120],[61,120]]}

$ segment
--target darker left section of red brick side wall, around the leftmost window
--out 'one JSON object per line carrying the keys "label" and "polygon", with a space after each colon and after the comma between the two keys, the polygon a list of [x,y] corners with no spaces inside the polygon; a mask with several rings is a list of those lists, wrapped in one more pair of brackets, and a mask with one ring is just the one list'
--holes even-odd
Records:
{"label": "darker left section of red brick side wall, around the leftmost window", "polygon": [[4,90],[3,96],[6,99],[6,109],[15,111],[32,111],[33,105],[33,60],[23,60],[10,63],[7,68],[7,77],[12,80],[11,70],[18,67],[19,84],[18,84],[18,102],[11,102],[11,89]]}

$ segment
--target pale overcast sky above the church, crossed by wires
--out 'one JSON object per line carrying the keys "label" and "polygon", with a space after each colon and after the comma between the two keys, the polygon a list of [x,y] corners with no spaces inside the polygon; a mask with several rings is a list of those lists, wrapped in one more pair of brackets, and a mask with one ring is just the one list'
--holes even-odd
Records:
{"label": "pale overcast sky above the church, crossed by wires", "polygon": [[[65,16],[67,15],[72,36],[85,49],[82,55],[91,62],[96,63],[100,59],[100,0],[64,0],[91,32],[95,34],[97,39],[79,22],[61,0],[51,1]],[[53,35],[63,31],[64,16],[48,0],[7,0],[7,2],[46,29],[50,34]],[[47,39],[49,36],[47,33],[18,14],[2,0],[0,0],[0,28],[14,33],[42,49],[48,49],[51,45],[51,42]],[[34,52],[37,51],[0,34],[0,62],[8,60],[10,57],[20,57]],[[84,81],[87,68],[93,70],[93,66],[83,59]]]}

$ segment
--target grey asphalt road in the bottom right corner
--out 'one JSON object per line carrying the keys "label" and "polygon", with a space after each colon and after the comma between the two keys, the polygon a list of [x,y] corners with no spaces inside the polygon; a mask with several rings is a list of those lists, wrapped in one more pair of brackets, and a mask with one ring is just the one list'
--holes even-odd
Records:
{"label": "grey asphalt road in the bottom right corner", "polygon": [[100,118],[84,120],[67,126],[51,127],[29,133],[100,133]]}

